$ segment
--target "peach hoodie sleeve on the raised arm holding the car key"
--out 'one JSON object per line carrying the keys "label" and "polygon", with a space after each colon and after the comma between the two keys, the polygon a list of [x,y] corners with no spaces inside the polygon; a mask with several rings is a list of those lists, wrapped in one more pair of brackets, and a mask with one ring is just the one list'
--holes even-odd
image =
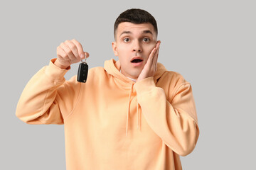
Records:
{"label": "peach hoodie sleeve on the raised arm holding the car key", "polygon": [[63,124],[75,106],[80,84],[75,77],[65,81],[68,69],[56,67],[55,59],[40,69],[26,84],[16,108],[16,116],[28,124]]}

